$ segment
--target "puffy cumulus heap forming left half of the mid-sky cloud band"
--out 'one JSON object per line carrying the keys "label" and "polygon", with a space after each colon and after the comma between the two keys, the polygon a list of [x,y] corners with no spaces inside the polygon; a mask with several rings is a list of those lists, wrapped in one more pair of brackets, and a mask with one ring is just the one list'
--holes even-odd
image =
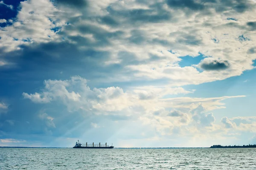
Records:
{"label": "puffy cumulus heap forming left half of the mid-sky cloud band", "polygon": [[131,103],[121,88],[93,88],[91,90],[87,86],[87,80],[79,76],[64,81],[45,80],[44,84],[44,92],[41,94],[23,93],[24,98],[38,103],[61,101],[70,111],[80,109],[117,111]]}

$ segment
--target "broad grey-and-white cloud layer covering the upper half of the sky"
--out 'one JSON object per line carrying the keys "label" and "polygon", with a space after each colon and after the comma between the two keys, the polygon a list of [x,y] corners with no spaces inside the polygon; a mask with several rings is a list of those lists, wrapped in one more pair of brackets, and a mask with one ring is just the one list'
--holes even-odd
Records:
{"label": "broad grey-and-white cloud layer covering the upper half of the sky", "polygon": [[[245,42],[237,39],[241,34],[253,39],[252,31],[245,31],[250,26],[242,19],[252,15],[253,2],[60,0],[52,3],[30,0],[20,6],[15,22],[0,31],[0,46],[5,52],[13,52],[20,58],[17,54],[21,49],[23,56],[33,56],[37,51],[56,63],[58,57],[57,65],[75,62],[69,56],[76,53],[72,55],[76,56],[76,63],[80,63],[76,64],[78,70],[84,68],[82,63],[89,65],[87,70],[97,67],[99,74],[106,75],[100,77],[101,81],[166,79],[170,86],[180,87],[226,79],[253,69],[255,56],[246,57],[253,41],[246,41],[241,48],[241,43]],[[86,7],[86,10],[68,6]],[[43,10],[38,11],[39,7]],[[186,15],[186,9],[195,13]],[[222,17],[220,11],[225,11],[225,16]],[[238,22],[234,25],[227,18],[236,18]],[[230,25],[230,22],[233,23]],[[232,26],[232,33],[227,34],[228,26]],[[12,56],[9,53],[2,55]],[[198,71],[192,65],[180,67],[177,64],[179,57],[196,57],[199,53],[213,58],[202,61],[201,67],[205,71]],[[29,69],[40,60],[39,57],[32,58]],[[11,57],[5,59],[6,62],[11,59],[17,62]],[[44,62],[51,65],[51,62]],[[209,70],[222,71],[213,76]]]}

